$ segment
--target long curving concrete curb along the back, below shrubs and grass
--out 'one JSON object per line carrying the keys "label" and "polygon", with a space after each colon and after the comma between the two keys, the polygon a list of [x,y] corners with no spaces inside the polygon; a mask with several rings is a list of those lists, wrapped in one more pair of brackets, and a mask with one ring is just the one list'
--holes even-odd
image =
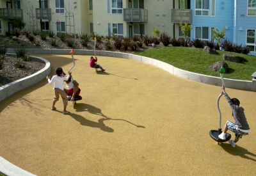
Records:
{"label": "long curving concrete curb along the back, below shrubs and grass", "polygon": [[[8,49],[8,52],[14,53],[14,49]],[[30,54],[70,54],[70,49],[28,49],[28,52]],[[196,81],[196,82],[205,83],[205,84],[211,84],[211,85],[215,85],[215,86],[222,85],[222,81],[221,81],[220,77],[206,76],[203,74],[196,74],[193,72],[188,72],[186,70],[182,70],[180,68],[173,67],[172,65],[170,65],[168,63],[164,63],[163,61],[155,60],[152,58],[147,58],[144,56],[138,56],[138,55],[134,55],[134,54],[127,54],[124,52],[111,52],[111,51],[95,51],[95,52],[96,52],[97,56],[109,56],[109,57],[113,57],[113,58],[124,58],[124,59],[140,61],[143,63],[154,65],[156,67],[162,68],[163,70],[166,70],[170,74],[182,77],[184,79],[189,79],[191,81]],[[76,49],[75,54],[77,54],[77,55],[92,55],[93,56],[94,51],[93,50]],[[256,79],[252,79],[252,81],[243,81],[243,80],[237,80],[237,79],[224,78],[224,80],[225,80],[225,86],[227,88],[256,91]]]}

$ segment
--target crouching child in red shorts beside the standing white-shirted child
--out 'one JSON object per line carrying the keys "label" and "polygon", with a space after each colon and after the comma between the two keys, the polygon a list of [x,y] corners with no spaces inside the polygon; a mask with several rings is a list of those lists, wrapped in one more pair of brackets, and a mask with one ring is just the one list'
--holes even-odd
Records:
{"label": "crouching child in red shorts beside the standing white-shirted child", "polygon": [[75,100],[75,96],[76,95],[79,95],[81,90],[80,88],[78,87],[79,84],[77,83],[77,81],[72,77],[71,73],[70,73],[70,77],[68,78],[66,82],[66,85],[67,85],[67,89],[64,89],[65,92],[67,93],[68,97],[72,96],[71,97],[71,101],[74,101]]}

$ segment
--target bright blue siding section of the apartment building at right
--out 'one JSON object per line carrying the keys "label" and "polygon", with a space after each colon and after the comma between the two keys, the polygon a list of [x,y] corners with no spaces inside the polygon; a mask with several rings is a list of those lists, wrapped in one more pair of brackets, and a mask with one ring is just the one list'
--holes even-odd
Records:
{"label": "bright blue siding section of the apartment building at right", "polygon": [[[248,45],[256,55],[256,0],[180,0],[192,11],[191,40],[213,40],[212,29],[226,28],[225,39]],[[189,7],[188,7],[189,8]]]}

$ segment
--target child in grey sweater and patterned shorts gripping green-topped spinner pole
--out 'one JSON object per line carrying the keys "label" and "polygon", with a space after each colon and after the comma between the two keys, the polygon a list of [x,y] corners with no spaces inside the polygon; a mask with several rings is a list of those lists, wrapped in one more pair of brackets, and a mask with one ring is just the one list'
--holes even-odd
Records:
{"label": "child in grey sweater and patterned shorts gripping green-topped spinner pole", "polygon": [[[227,102],[232,109],[232,116],[234,117],[235,124],[228,120],[223,127],[223,132],[218,137],[221,140],[225,140],[226,139],[225,135],[228,129],[233,132],[244,132],[244,133],[250,132],[251,131],[250,127],[244,115],[244,108],[239,106],[240,105],[239,100],[236,98],[230,99],[228,94],[225,92],[224,86],[222,86],[221,88],[221,93],[225,95],[225,98],[227,99]],[[236,147],[236,143],[238,140],[239,140],[239,137],[236,136],[234,140],[229,140],[228,142],[232,147]]]}

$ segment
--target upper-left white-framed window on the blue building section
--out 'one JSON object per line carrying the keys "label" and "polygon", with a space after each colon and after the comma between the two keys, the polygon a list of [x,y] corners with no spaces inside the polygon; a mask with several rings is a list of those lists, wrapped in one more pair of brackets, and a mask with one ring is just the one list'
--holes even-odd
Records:
{"label": "upper-left white-framed window on the blue building section", "polygon": [[210,0],[195,0],[196,16],[209,16],[209,1]]}

